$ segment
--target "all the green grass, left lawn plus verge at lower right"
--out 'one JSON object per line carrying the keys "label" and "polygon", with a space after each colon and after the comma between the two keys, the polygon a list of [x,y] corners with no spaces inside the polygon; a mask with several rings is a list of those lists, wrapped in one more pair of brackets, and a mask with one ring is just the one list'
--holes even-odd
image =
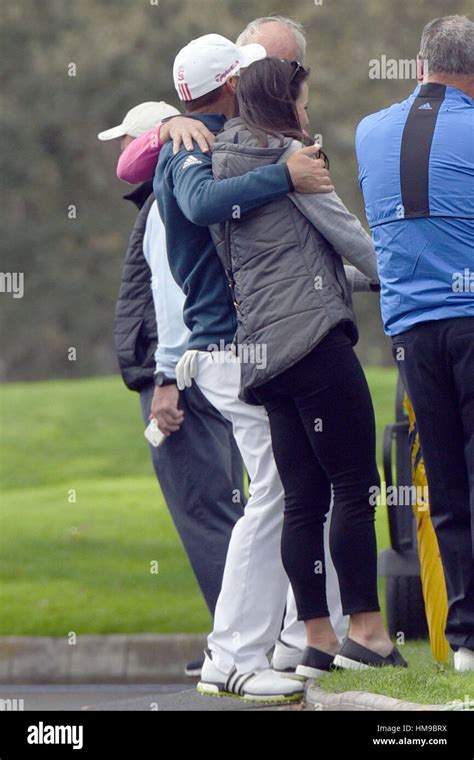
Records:
{"label": "all the green grass, left lawn plus verge at lower right", "polygon": [[[369,368],[367,376],[380,460],[396,375]],[[7,384],[0,393],[0,635],[208,631],[151,469],[138,396],[118,377]],[[379,549],[388,546],[384,508],[377,535]],[[380,592],[383,601],[382,579]],[[474,695],[473,676],[438,673],[426,643],[403,651],[410,671],[334,673],[324,685],[419,702]]]}

